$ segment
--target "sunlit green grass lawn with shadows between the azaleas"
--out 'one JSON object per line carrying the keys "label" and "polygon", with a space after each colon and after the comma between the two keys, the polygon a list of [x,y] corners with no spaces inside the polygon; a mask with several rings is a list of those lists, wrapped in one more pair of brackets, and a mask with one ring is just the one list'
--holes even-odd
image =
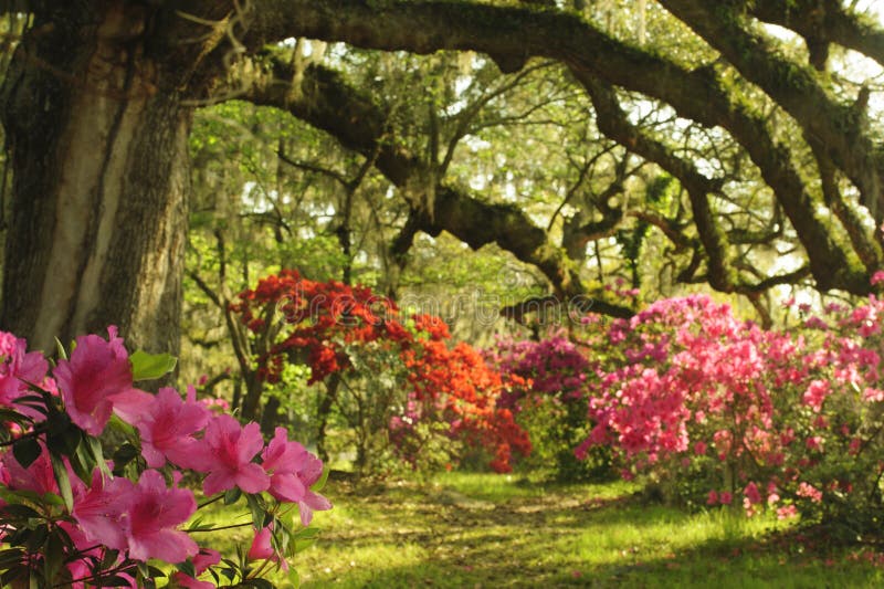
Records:
{"label": "sunlit green grass lawn with shadows between the azaleas", "polygon": [[[884,587],[867,549],[799,541],[776,519],[643,504],[625,483],[448,473],[326,492],[335,508],[316,515],[320,539],[294,562],[306,588]],[[218,534],[213,544],[251,540]]]}

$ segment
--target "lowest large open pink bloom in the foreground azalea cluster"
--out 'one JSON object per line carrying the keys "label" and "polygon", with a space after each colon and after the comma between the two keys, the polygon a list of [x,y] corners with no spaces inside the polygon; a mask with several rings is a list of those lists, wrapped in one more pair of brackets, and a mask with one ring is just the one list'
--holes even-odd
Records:
{"label": "lowest large open pink bloom in the foreground azalea cluster", "polygon": [[159,558],[183,562],[199,551],[197,543],[175,529],[197,511],[193,494],[186,488],[171,488],[157,471],[145,471],[131,494],[127,536],[129,556],[136,560]]}

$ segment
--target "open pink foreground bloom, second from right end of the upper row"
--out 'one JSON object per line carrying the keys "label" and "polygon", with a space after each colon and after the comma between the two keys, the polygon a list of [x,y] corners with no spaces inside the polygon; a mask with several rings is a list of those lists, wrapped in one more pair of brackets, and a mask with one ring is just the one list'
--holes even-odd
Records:
{"label": "open pink foreground bloom, second from right end of the upper row", "polygon": [[202,491],[214,495],[221,491],[240,487],[246,493],[261,493],[270,487],[270,476],[252,459],[264,448],[257,423],[244,428],[231,416],[212,418],[206,437],[194,452],[192,469],[208,472]]}

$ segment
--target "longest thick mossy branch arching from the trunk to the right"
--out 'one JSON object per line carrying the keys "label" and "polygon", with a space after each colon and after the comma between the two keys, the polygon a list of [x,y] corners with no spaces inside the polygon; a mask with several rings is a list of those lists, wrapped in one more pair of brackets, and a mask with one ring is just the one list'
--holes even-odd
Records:
{"label": "longest thick mossy branch arching from the trunk to the right", "polygon": [[[774,140],[761,115],[730,96],[714,70],[688,71],[627,45],[577,15],[551,10],[393,0],[260,0],[255,6],[245,38],[250,48],[303,35],[387,51],[472,50],[491,55],[505,71],[519,69],[528,57],[545,56],[575,73],[662,99],[703,125],[722,126],[743,145],[775,191],[807,251],[818,287],[867,292],[864,270],[833,239],[831,223],[818,218],[819,203],[809,194],[790,150]],[[388,177],[397,173],[396,164],[390,164]]]}

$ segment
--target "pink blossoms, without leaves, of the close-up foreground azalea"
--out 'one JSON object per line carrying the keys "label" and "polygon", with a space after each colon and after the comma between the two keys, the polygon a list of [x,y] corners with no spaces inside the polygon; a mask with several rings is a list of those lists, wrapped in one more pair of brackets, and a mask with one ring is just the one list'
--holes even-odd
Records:
{"label": "pink blossoms, without leaves, of the close-up foreground azalea", "polygon": [[[70,359],[59,360],[51,376],[40,353],[28,354],[24,340],[0,333],[0,407],[23,409],[33,422],[25,435],[34,437],[40,444],[39,456],[28,467],[11,451],[0,455],[1,486],[38,496],[63,494],[59,465],[53,465],[48,442],[39,435],[45,430],[41,420],[46,419],[48,411],[39,403],[22,404],[31,395],[31,386],[60,396],[71,422],[90,437],[99,435],[113,414],[139,434],[146,467],[137,474],[137,481],[113,476],[103,464],[93,470],[90,481],[83,481],[67,457],[62,461],[73,501],[60,525],[81,550],[78,558],[69,555],[74,578],[77,574],[88,576],[86,565],[94,560],[98,547],[119,551],[120,561],[159,559],[178,564],[192,559],[197,572],[200,566],[218,562],[213,551],[200,551],[197,543],[179,529],[197,509],[193,492],[179,486],[179,469],[204,474],[206,495],[239,488],[248,494],[266,492],[278,502],[297,504],[305,526],[314,511],[332,507],[311,490],[322,476],[322,461],[298,442],[290,441],[285,429],[276,429],[265,445],[256,423],[241,425],[229,414],[213,413],[207,403],[197,401],[193,388],[185,398],[171,388],[162,388],[157,395],[135,388],[123,340],[114,328],[108,332],[108,339],[78,337]],[[181,586],[212,587],[186,575],[179,577]]]}

